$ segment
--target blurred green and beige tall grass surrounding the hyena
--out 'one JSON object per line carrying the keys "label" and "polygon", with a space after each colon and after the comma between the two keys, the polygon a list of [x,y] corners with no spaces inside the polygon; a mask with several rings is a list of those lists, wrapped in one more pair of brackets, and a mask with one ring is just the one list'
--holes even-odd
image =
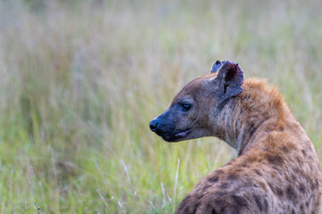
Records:
{"label": "blurred green and beige tall grass surrounding the hyena", "polygon": [[322,2],[0,2],[2,213],[172,213],[235,157],[148,129],[212,62],[280,86],[322,158]]}

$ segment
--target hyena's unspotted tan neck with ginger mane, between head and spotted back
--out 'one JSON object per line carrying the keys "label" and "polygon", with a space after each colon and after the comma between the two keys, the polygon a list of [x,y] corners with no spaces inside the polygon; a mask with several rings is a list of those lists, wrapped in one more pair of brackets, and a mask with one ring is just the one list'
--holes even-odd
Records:
{"label": "hyena's unspotted tan neck with ginger mane, between head and spotted back", "polygon": [[259,144],[274,130],[284,128],[284,115],[289,111],[274,86],[250,79],[243,84],[241,95],[232,97],[220,112],[220,139],[237,150],[238,155]]}

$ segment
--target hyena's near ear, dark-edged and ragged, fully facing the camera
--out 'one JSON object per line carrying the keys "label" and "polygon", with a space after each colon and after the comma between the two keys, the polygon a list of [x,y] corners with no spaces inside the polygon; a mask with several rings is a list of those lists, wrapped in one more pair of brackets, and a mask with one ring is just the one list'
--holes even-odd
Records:
{"label": "hyena's near ear, dark-edged and ragged, fully facing the camera", "polygon": [[236,96],[242,93],[243,73],[238,63],[224,62],[218,70],[217,78],[225,95]]}

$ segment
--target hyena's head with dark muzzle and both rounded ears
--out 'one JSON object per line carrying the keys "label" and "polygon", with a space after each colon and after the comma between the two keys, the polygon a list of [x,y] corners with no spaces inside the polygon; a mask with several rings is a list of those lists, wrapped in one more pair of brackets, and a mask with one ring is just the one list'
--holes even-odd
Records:
{"label": "hyena's head with dark muzzle and both rounded ears", "polygon": [[217,136],[217,116],[232,97],[242,93],[243,75],[237,63],[228,61],[216,61],[210,71],[184,86],[149,128],[167,142]]}

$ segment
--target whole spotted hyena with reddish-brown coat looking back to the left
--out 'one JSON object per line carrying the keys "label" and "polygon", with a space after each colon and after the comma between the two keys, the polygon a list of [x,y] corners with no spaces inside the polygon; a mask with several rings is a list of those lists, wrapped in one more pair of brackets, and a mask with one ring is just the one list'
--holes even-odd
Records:
{"label": "whole spotted hyena with reddish-brown coat looking back to the left", "polygon": [[216,136],[238,157],[201,179],[176,213],[318,213],[317,152],[275,86],[215,62],[149,127],[167,142]]}

